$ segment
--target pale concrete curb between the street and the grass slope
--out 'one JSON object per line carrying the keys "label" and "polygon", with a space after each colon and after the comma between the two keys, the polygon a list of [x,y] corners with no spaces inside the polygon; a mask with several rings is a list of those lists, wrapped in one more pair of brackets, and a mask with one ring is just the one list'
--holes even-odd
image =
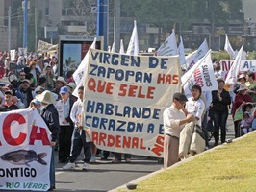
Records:
{"label": "pale concrete curb between the street and the grass slope", "polygon": [[173,168],[175,168],[175,167],[177,167],[177,166],[180,166],[180,165],[182,165],[182,164],[184,164],[184,163],[187,163],[187,162],[193,160],[193,159],[194,159],[195,157],[197,157],[197,156],[203,156],[204,154],[210,153],[210,152],[212,152],[212,151],[214,151],[214,150],[217,150],[217,149],[219,149],[219,148],[222,148],[222,147],[224,147],[225,145],[230,145],[230,143],[233,143],[233,142],[237,142],[237,141],[239,141],[239,140],[242,140],[244,137],[248,136],[248,135],[251,134],[251,133],[253,133],[253,132],[249,132],[249,133],[247,133],[247,134],[244,134],[243,136],[241,136],[241,137],[239,137],[239,138],[236,138],[236,139],[230,139],[230,140],[228,140],[226,143],[224,143],[224,144],[222,144],[222,145],[218,145],[218,146],[216,146],[216,147],[214,147],[214,148],[212,148],[212,149],[210,149],[210,150],[207,150],[207,151],[202,152],[201,154],[198,154],[198,155],[195,155],[195,156],[191,156],[191,157],[189,157],[189,158],[186,158],[186,159],[184,159],[184,160],[182,160],[182,161],[180,161],[180,162],[177,162],[176,164],[172,165],[171,167],[168,167],[167,169],[162,168],[162,169],[160,169],[160,170],[158,170],[158,171],[152,172],[152,173],[150,173],[150,174],[148,174],[148,175],[145,175],[145,176],[142,176],[142,177],[140,177],[140,178],[138,178],[138,179],[132,180],[132,181],[126,183],[126,184],[123,184],[123,185],[121,185],[121,186],[116,187],[115,189],[109,190],[109,192],[117,192],[117,191],[119,191],[119,190],[127,190],[127,191],[130,191],[130,190],[136,189],[137,185],[138,185],[142,180],[147,180],[147,179],[149,179],[150,177],[152,177],[152,176],[154,176],[154,175],[156,175],[156,174],[165,172],[166,170],[173,169]]}

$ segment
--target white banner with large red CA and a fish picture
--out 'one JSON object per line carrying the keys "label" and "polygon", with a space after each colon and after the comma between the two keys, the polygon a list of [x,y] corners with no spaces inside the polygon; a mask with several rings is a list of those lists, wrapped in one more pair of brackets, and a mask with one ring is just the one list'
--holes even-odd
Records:
{"label": "white banner with large red CA and a fish picture", "polygon": [[0,113],[1,190],[50,188],[50,135],[37,110]]}

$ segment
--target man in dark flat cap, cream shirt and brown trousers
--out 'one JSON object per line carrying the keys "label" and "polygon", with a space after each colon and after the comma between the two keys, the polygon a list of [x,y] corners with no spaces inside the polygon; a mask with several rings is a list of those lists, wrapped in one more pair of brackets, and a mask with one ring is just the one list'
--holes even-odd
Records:
{"label": "man in dark flat cap, cream shirt and brown trousers", "polygon": [[183,93],[174,93],[172,105],[163,113],[165,140],[164,140],[164,168],[179,161],[179,137],[186,123],[194,120],[192,114],[185,115],[185,104],[188,101]]}

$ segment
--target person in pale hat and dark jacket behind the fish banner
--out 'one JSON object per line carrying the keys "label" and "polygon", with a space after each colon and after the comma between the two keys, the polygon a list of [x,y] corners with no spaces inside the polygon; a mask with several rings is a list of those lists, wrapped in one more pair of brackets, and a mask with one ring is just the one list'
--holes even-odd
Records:
{"label": "person in pale hat and dark jacket behind the fish banner", "polygon": [[[54,147],[56,145],[60,131],[60,124],[58,120],[59,114],[57,109],[54,107],[56,101],[53,97],[53,94],[48,90],[45,90],[40,95],[37,95],[36,99],[38,99],[38,101],[42,104],[42,110],[40,114],[47,127],[52,132],[51,146]],[[55,189],[55,163],[53,150],[50,164],[50,185],[51,189]]]}

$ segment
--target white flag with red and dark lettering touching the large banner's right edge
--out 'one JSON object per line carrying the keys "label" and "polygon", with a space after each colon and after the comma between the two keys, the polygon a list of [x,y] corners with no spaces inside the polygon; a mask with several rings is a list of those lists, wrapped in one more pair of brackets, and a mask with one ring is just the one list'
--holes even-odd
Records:
{"label": "white flag with red and dark lettering touching the large banner's right edge", "polygon": [[205,57],[198,60],[192,68],[181,77],[185,95],[191,94],[192,86],[198,84],[202,91],[217,90],[218,83],[214,74],[214,67],[211,59],[211,50]]}

